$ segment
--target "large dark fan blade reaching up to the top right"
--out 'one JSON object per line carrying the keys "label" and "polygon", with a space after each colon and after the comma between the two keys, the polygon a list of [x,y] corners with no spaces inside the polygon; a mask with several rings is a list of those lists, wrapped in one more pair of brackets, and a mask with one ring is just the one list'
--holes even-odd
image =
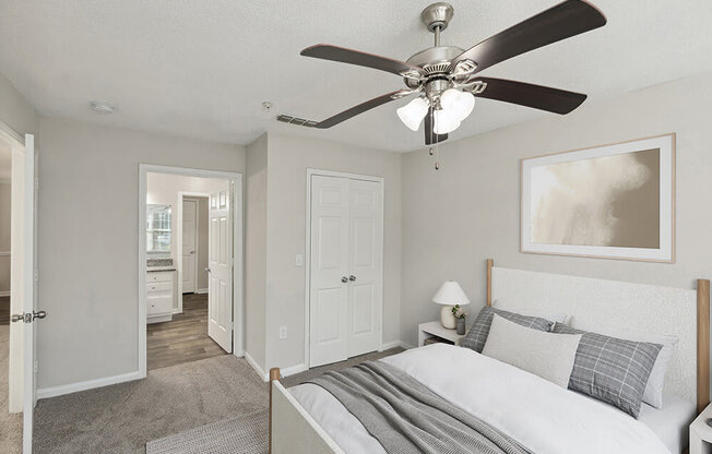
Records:
{"label": "large dark fan blade reaching up to the top right", "polygon": [[465,50],[455,57],[453,63],[468,59],[477,63],[475,72],[479,72],[605,24],[606,17],[592,4],[583,0],[567,0]]}

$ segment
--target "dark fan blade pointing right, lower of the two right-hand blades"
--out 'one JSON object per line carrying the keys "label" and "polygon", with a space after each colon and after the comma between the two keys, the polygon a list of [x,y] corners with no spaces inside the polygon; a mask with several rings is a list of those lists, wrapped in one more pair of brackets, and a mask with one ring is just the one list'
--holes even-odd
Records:
{"label": "dark fan blade pointing right, lower of the two right-hand blades", "polygon": [[586,95],[581,93],[524,82],[493,77],[476,77],[476,80],[487,84],[484,92],[475,94],[478,98],[503,100],[555,113],[569,113],[586,99]]}

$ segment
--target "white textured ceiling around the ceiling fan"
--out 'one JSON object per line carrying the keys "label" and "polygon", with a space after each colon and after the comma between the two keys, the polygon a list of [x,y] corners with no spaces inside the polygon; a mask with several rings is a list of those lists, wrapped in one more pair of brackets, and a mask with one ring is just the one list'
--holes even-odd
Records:
{"label": "white textured ceiling around the ceiling fan", "polygon": [[[467,48],[557,0],[451,0],[442,43]],[[712,70],[711,0],[594,0],[603,28],[483,75],[588,93],[586,103]],[[329,43],[405,60],[431,46],[424,0],[0,0],[0,72],[43,115],[247,144],[283,131],[381,150],[423,146],[400,100],[331,130],[277,123],[262,101],[321,120],[403,87],[375,70],[299,56]],[[98,116],[91,99],[118,106]],[[460,139],[553,115],[479,100]]]}

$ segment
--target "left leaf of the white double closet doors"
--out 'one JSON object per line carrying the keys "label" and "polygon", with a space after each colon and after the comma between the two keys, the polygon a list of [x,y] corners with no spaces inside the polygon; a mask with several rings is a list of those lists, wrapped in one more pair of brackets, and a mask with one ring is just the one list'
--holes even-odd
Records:
{"label": "left leaf of the white double closet doors", "polygon": [[348,179],[311,177],[309,366],[348,356]]}

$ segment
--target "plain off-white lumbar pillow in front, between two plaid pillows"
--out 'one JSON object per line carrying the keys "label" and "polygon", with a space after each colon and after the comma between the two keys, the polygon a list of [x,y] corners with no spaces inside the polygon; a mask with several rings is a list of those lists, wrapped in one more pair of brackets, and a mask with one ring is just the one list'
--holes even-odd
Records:
{"label": "plain off-white lumbar pillow in front, between two plaid pillows", "polygon": [[569,386],[581,334],[554,334],[518,325],[495,314],[482,354]]}

